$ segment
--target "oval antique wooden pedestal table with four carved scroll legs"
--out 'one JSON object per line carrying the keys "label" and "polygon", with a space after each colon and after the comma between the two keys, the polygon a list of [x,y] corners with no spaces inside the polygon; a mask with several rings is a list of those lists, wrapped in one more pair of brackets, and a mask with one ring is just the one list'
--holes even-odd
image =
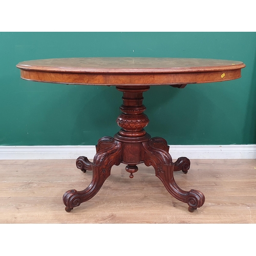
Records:
{"label": "oval antique wooden pedestal table with four carved scroll legs", "polygon": [[152,165],[156,176],[176,199],[187,203],[193,212],[204,204],[205,197],[198,191],[182,190],[173,173],[187,173],[190,161],[180,157],[173,162],[166,140],[151,138],[144,130],[148,117],[143,113],[143,92],[150,86],[169,85],[184,88],[190,83],[220,82],[241,77],[243,62],[233,60],[193,58],[60,58],[23,61],[16,66],[21,78],[38,82],[116,86],[123,93],[122,113],[117,118],[121,127],[114,137],[103,137],[96,145],[93,162],[81,156],[77,168],[93,171],[90,185],[82,191],[68,190],[63,195],[66,211],[94,197],[110,176],[111,167],[124,163],[130,178],[138,164]]}

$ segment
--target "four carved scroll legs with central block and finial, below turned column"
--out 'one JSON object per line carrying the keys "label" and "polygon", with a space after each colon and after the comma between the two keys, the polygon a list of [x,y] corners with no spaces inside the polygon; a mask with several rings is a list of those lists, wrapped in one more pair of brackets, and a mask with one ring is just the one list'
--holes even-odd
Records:
{"label": "four carved scroll legs with central block and finial, below turned column", "polygon": [[[131,154],[133,145],[134,152]],[[152,165],[155,168],[156,176],[163,182],[167,191],[176,199],[187,203],[188,210],[193,212],[204,204],[205,197],[198,190],[184,191],[176,184],[173,173],[178,170],[187,173],[190,161],[186,157],[181,157],[173,162],[168,151],[167,142],[159,137],[133,144],[117,141],[112,137],[101,138],[96,145],[97,153],[93,162],[83,156],[76,160],[76,166],[82,172],[86,172],[86,170],[93,171],[93,178],[86,189],[82,191],[72,189],[63,195],[66,211],[70,212],[74,207],[94,197],[104,181],[110,176],[113,165],[127,164],[125,169],[130,173],[130,178],[133,178],[133,173],[138,170],[136,164],[144,163],[146,166]],[[134,160],[127,162],[127,156],[130,156],[130,158],[133,156],[131,159]]]}

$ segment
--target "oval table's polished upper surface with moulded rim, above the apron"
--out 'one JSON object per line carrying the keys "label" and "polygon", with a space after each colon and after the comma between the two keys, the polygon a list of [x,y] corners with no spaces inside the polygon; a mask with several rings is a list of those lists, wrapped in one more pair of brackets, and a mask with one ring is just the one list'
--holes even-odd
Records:
{"label": "oval table's polished upper surface with moulded rim, above the apron", "polygon": [[233,70],[244,68],[245,65],[241,61],[221,59],[95,57],[29,60],[18,63],[17,67],[77,73],[177,73]]}

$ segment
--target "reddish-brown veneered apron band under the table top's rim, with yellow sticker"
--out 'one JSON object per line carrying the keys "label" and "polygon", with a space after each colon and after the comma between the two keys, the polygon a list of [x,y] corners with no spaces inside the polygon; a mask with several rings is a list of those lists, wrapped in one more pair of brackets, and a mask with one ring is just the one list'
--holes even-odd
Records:
{"label": "reddish-brown veneered apron band under the table top's rim, with yellow sticker", "polygon": [[166,85],[177,83],[206,83],[238,79],[241,69],[211,72],[111,74],[71,73],[20,70],[21,78],[38,82],[87,85]]}

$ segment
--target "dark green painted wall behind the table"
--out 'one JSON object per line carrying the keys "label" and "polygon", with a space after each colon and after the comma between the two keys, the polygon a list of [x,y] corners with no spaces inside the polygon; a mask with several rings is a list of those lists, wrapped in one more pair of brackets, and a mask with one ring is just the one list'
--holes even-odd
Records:
{"label": "dark green painted wall behind the table", "polygon": [[24,60],[184,57],[243,61],[242,78],[144,93],[146,131],[168,144],[256,143],[256,33],[1,32],[0,145],[95,145],[119,131],[121,92],[19,78]]}

